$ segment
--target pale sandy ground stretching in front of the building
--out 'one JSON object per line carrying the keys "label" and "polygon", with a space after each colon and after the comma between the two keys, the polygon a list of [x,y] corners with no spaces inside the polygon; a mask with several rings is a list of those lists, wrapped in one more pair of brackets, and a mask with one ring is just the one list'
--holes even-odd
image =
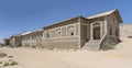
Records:
{"label": "pale sandy ground stretching in front of the building", "polygon": [[15,68],[132,68],[132,39],[123,38],[116,49],[89,50],[40,50],[31,48],[0,48],[12,55]]}

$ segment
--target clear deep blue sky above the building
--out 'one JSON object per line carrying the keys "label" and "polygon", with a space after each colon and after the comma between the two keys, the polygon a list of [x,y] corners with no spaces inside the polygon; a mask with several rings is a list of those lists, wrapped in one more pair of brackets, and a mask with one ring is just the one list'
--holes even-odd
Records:
{"label": "clear deep blue sky above the building", "polygon": [[118,9],[123,23],[132,23],[132,0],[0,0],[0,42],[78,15]]}

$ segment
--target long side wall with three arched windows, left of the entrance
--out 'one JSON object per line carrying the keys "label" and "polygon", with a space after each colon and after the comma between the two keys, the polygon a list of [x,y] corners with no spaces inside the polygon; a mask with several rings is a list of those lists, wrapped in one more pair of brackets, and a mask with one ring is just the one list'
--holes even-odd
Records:
{"label": "long side wall with three arched windows, left of the entrance", "polygon": [[[70,21],[63,22],[63,23],[44,29],[43,39],[41,41],[41,45],[43,47],[45,48],[75,48],[75,49],[79,48],[78,19],[76,20],[74,19]],[[74,26],[73,36],[67,35],[67,31],[69,26]],[[61,30],[61,36],[56,35],[57,30]],[[50,37],[47,37],[46,34],[50,34]]]}

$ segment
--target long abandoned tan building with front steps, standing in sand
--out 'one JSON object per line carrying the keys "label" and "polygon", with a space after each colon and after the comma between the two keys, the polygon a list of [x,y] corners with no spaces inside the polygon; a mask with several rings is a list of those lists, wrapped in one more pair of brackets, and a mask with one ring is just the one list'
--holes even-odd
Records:
{"label": "long abandoned tan building with front steps, standing in sand", "polygon": [[103,45],[119,43],[120,23],[122,19],[118,10],[77,16],[14,36],[13,45],[100,50]]}

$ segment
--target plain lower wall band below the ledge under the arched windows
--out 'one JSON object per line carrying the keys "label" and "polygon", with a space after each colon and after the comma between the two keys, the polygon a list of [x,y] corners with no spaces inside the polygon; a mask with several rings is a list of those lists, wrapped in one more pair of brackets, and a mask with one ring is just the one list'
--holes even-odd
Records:
{"label": "plain lower wall band below the ledge under the arched windows", "polygon": [[44,48],[78,48],[78,36],[42,39]]}

